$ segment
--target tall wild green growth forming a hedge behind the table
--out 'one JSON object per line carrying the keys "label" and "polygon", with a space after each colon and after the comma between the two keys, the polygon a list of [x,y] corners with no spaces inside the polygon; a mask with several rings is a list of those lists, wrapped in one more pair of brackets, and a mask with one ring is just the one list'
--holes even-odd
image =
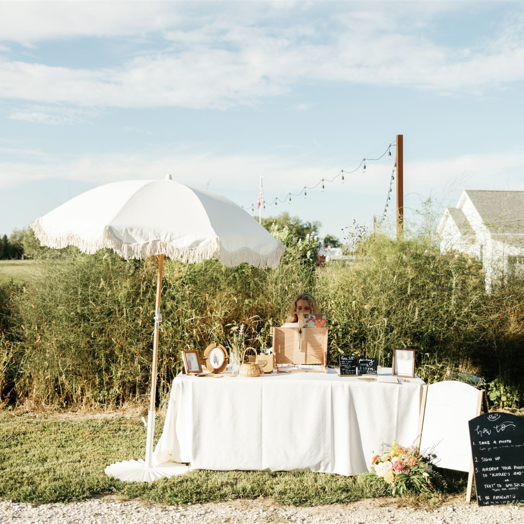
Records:
{"label": "tall wild green growth forming a hedge behind the table", "polygon": [[[292,299],[310,291],[329,318],[331,363],[357,353],[388,366],[394,347],[414,347],[422,378],[475,374],[496,405],[522,404],[522,283],[487,294],[479,262],[440,254],[428,235],[400,242],[373,236],[349,260],[315,269],[313,239],[274,234],[287,246],[276,270],[166,262],[161,401],[181,368],[180,350],[203,350],[213,341],[231,346],[231,328],[240,323],[246,343],[268,347]],[[156,278],[156,259],[125,261],[112,252],[70,250],[42,264],[40,276],[9,295],[13,314],[3,320],[0,348],[18,398],[64,407],[143,399]]]}

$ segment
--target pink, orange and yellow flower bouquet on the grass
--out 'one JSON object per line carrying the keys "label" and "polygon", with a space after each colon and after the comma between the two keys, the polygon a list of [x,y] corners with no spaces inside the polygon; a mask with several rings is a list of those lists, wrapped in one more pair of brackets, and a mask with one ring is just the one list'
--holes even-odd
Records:
{"label": "pink, orange and yellow flower bouquet on the grass", "polygon": [[384,482],[391,488],[392,495],[433,489],[432,477],[436,475],[431,457],[421,455],[416,447],[405,448],[398,442],[373,457],[371,473],[374,482]]}

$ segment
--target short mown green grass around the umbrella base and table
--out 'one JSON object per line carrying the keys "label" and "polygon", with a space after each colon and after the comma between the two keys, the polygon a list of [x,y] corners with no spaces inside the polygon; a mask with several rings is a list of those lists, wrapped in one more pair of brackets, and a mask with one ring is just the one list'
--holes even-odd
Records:
{"label": "short mown green grass around the umbrella base and table", "polygon": [[[162,425],[163,420],[157,420],[157,438]],[[138,418],[15,416],[4,410],[0,412],[0,499],[39,504],[112,492],[165,504],[265,496],[282,504],[316,506],[387,495],[367,475],[195,471],[147,484],[123,483],[104,474],[107,464],[143,456],[145,441],[146,429]],[[448,494],[464,492],[465,482],[465,474],[452,475],[446,493],[402,497],[402,503],[440,504]]]}

